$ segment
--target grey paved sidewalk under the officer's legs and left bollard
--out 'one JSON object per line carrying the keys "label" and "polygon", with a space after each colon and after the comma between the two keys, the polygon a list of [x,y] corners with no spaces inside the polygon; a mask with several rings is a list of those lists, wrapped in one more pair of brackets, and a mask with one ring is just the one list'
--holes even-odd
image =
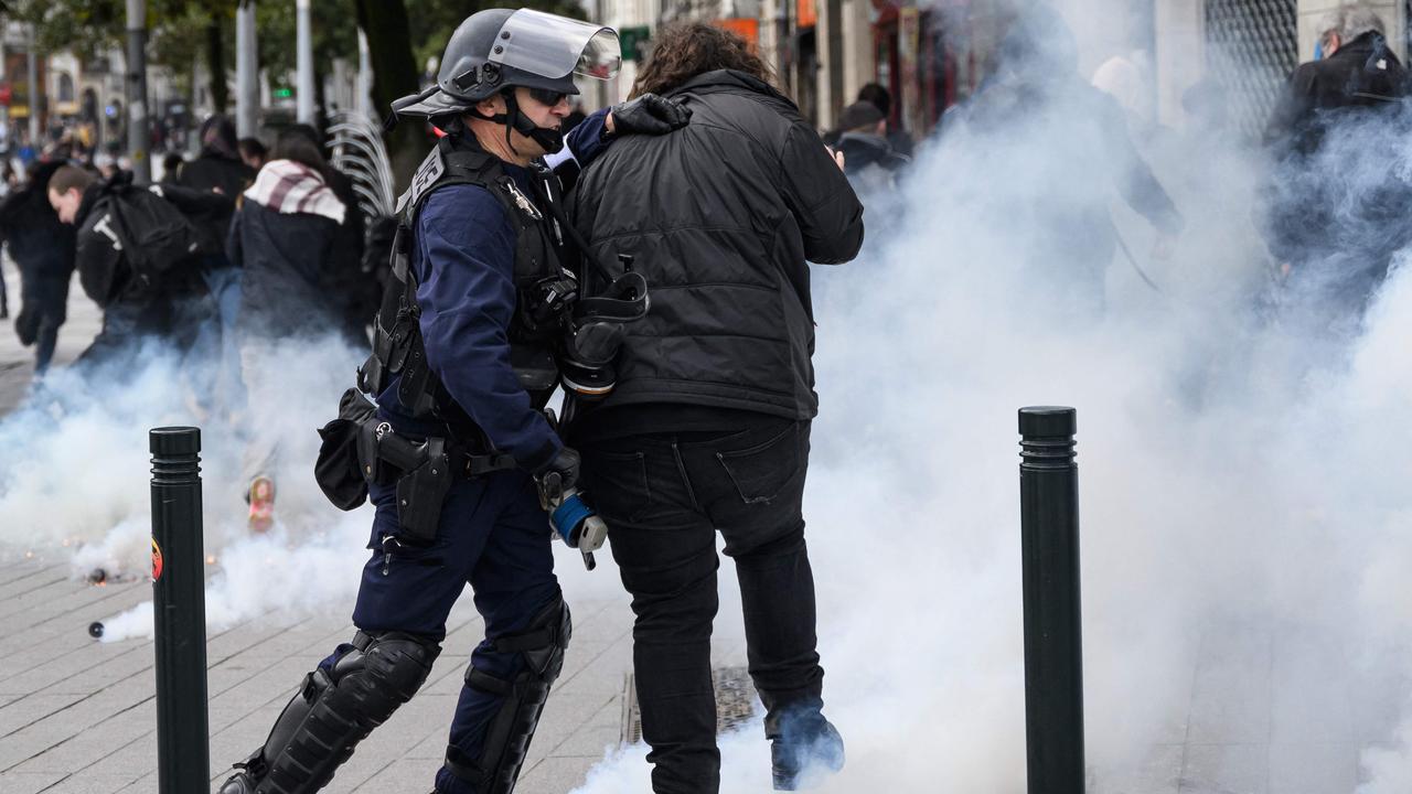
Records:
{"label": "grey paved sidewalk under the officer's legs and left bollard", "polygon": [[[65,561],[0,561],[0,632],[24,637],[0,660],[0,791],[151,794],[157,791],[152,644],[99,643],[88,626],[151,598],[151,583],[95,586]],[[580,784],[621,735],[623,680],[631,664],[621,602],[576,602],[573,641],[545,708],[518,794],[563,794]],[[463,599],[422,691],[359,746],[326,788],[431,790],[446,747],[480,619]],[[213,783],[258,746],[301,677],[346,641],[346,620],[253,620],[208,639]]]}

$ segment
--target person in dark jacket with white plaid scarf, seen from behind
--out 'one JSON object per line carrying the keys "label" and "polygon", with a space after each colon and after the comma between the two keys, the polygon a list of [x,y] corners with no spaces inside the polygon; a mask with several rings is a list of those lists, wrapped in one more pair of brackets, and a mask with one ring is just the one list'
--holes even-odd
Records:
{"label": "person in dark jacket with white plaid scarf, seen from behind", "polygon": [[[285,398],[275,343],[340,329],[342,301],[329,290],[330,274],[343,257],[353,256],[354,267],[357,259],[343,250],[347,206],[329,188],[326,172],[318,147],[304,133],[287,130],[230,225],[226,256],[243,273],[236,321],[240,373],[253,411]],[[247,425],[251,527],[264,530],[273,521],[278,437],[261,422]]]}

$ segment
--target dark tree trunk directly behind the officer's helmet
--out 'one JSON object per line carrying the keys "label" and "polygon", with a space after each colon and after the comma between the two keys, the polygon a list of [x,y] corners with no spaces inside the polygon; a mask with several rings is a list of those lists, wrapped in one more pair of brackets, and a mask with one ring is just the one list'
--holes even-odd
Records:
{"label": "dark tree trunk directly behind the officer's helmet", "polygon": [[[357,0],[357,24],[367,35],[367,54],[373,64],[373,106],[378,116],[387,116],[391,113],[394,99],[417,93],[419,88],[407,3]],[[401,192],[426,155],[422,126],[404,122],[383,136],[383,140],[387,144],[387,157],[393,161],[393,181]]]}

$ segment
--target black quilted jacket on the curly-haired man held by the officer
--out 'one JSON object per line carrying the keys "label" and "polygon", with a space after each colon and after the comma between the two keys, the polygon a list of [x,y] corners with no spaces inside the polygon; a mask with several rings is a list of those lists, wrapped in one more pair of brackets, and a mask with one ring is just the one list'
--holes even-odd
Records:
{"label": "black quilted jacket on the curly-haired man held by the officer", "polygon": [[573,195],[593,256],[614,271],[633,256],[651,288],[606,404],[812,418],[805,260],[853,259],[863,206],[794,103],[758,79],[707,72],[671,96],[692,109],[690,124],[618,140]]}

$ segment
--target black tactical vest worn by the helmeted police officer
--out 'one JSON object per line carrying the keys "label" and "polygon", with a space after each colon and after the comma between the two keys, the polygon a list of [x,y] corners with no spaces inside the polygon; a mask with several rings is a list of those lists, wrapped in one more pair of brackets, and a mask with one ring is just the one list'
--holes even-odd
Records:
{"label": "black tactical vest worn by the helmeted police officer", "polygon": [[411,267],[417,218],[428,196],[446,185],[479,185],[490,191],[505,209],[515,229],[515,314],[510,325],[510,357],[520,384],[542,408],[558,383],[555,348],[568,314],[566,301],[546,307],[545,292],[568,295],[576,290],[552,284],[573,284],[573,274],[559,260],[561,230],[548,212],[559,201],[558,184],[546,168],[534,171],[530,195],[505,174],[500,158],[487,154],[469,134],[446,136],[426,155],[411,186],[397,199],[397,233],[393,242],[393,280],[383,294],[383,307],[373,328],[373,355],[359,367],[359,389],[378,396],[401,376],[398,401],[418,420],[441,420],[470,442],[479,428],[450,398],[441,379],[426,366],[421,308],[417,305],[417,274]]}

